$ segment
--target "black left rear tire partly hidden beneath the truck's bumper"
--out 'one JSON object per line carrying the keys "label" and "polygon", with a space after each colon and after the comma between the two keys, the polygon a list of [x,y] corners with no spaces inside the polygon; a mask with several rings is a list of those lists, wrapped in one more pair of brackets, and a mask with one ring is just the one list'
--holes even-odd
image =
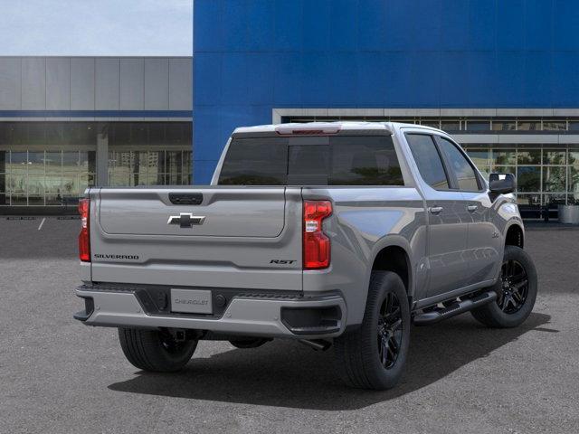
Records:
{"label": "black left rear tire partly hidden beneath the truck's bumper", "polygon": [[166,330],[119,328],[120,347],[128,362],[153,373],[180,371],[191,360],[197,340],[176,342]]}

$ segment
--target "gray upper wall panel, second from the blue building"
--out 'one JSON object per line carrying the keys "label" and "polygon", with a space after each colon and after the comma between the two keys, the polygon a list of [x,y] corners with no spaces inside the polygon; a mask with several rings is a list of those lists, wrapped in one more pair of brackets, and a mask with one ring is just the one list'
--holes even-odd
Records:
{"label": "gray upper wall panel, second from the blue building", "polygon": [[169,109],[169,61],[145,59],[145,109]]}

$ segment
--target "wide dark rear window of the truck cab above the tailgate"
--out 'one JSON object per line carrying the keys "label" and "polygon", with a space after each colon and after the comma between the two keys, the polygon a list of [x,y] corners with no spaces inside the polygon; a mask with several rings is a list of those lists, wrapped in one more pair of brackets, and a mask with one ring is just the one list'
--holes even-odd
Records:
{"label": "wide dark rear window of the truck cab above the tailgate", "polygon": [[233,139],[223,185],[403,185],[392,137]]}

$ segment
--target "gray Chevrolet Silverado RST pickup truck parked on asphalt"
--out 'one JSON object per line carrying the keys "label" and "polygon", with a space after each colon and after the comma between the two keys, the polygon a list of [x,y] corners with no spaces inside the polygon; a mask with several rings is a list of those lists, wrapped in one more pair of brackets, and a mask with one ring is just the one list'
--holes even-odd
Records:
{"label": "gray Chevrolet Silverado RST pickup truck parked on asphalt", "polygon": [[139,369],[182,369],[199,340],[334,346],[346,383],[399,380],[411,325],[529,316],[536,269],[510,174],[396,123],[240,127],[209,186],[90,188],[85,325],[119,328]]}

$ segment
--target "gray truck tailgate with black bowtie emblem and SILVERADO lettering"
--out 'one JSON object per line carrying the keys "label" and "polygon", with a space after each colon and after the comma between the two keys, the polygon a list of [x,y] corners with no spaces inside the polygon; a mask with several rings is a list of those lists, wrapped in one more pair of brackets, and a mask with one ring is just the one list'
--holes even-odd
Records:
{"label": "gray truck tailgate with black bowtie emblem and SILVERADO lettering", "polygon": [[90,200],[92,281],[301,290],[299,188],[102,188]]}

